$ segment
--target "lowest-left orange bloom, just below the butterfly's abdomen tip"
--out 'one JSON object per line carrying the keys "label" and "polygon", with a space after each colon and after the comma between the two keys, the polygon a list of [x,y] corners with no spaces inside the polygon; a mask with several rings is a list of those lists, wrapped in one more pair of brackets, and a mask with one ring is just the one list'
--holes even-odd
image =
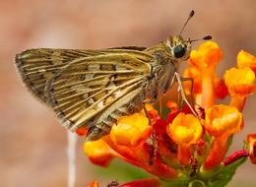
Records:
{"label": "lowest-left orange bloom, just below the butterfly's abdomen tip", "polygon": [[84,152],[92,162],[101,166],[107,166],[116,155],[102,139],[84,143]]}

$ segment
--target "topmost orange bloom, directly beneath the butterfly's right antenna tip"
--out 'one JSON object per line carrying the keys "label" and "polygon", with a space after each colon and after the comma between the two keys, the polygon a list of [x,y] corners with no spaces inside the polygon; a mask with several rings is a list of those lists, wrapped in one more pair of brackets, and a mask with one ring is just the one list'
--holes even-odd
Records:
{"label": "topmost orange bloom, directly beneath the butterfly's right antenna tip", "polygon": [[214,41],[207,41],[199,46],[199,49],[192,50],[189,63],[198,70],[205,70],[216,67],[223,57],[223,52],[219,45]]}

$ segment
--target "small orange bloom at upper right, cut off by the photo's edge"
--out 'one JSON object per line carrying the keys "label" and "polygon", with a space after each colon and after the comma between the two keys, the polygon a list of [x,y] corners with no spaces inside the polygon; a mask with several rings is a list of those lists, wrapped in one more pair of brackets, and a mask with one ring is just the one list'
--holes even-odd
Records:
{"label": "small orange bloom at upper right, cut off by the photo's edge", "polygon": [[241,50],[236,57],[237,67],[242,69],[245,67],[250,68],[254,73],[256,73],[256,57],[251,55],[244,50]]}

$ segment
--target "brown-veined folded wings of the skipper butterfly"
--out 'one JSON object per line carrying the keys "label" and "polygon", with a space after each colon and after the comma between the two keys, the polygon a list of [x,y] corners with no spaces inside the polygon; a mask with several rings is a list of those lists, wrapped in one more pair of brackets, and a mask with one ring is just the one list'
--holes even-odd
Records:
{"label": "brown-veined folded wings of the skipper butterfly", "polygon": [[131,104],[137,103],[130,102],[144,99],[139,94],[155,58],[142,50],[32,49],[19,54],[16,62],[26,85],[53,108],[63,126],[72,131],[95,126],[107,134],[110,128],[102,124],[111,127],[113,119],[134,112],[122,107],[134,109]]}

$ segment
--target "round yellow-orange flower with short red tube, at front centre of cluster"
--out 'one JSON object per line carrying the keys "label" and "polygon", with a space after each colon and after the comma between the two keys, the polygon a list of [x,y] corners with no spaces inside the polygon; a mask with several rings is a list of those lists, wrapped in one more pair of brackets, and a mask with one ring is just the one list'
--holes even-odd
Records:
{"label": "round yellow-orange flower with short red tube, at front centre of cluster", "polygon": [[190,145],[202,136],[200,121],[192,114],[179,113],[167,126],[168,136],[178,145],[178,159],[181,164],[190,162]]}

